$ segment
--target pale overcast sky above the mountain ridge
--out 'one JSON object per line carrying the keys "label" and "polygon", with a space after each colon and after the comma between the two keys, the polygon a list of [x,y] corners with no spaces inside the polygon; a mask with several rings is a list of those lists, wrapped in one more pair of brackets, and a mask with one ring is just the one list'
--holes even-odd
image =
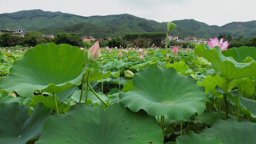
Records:
{"label": "pale overcast sky above the mountain ridge", "polygon": [[157,22],[194,19],[218,26],[256,20],[256,0],[0,0],[0,14],[33,9],[81,16],[128,13]]}

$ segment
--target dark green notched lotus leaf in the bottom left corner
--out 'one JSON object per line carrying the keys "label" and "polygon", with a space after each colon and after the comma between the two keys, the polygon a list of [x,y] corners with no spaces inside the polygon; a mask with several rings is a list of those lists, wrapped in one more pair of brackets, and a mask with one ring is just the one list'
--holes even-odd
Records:
{"label": "dark green notched lotus leaf in the bottom left corner", "polygon": [[34,112],[29,115],[24,105],[2,103],[0,114],[0,143],[26,144],[30,139],[39,138],[51,110],[39,103]]}

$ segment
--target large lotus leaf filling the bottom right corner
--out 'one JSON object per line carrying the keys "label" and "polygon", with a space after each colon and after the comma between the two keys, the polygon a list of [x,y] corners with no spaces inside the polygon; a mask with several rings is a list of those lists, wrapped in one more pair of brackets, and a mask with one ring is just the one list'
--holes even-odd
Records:
{"label": "large lotus leaf filling the bottom right corner", "polygon": [[205,128],[201,134],[218,137],[224,144],[256,144],[255,130],[256,123],[228,119],[217,120],[211,128]]}

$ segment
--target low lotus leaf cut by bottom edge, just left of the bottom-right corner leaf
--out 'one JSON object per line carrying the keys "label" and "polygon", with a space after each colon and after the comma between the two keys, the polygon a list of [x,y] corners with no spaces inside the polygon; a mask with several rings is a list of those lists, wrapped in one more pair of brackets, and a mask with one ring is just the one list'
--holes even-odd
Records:
{"label": "low lotus leaf cut by bottom edge, just left of the bottom-right corner leaf", "polygon": [[205,134],[196,134],[194,132],[178,136],[176,141],[164,144],[223,144],[218,137],[207,137]]}

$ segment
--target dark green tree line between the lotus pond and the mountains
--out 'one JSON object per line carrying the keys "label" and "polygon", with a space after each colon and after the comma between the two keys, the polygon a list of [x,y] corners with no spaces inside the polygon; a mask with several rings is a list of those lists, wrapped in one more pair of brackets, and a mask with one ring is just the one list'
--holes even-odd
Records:
{"label": "dark green tree line between the lotus pond and the mountains", "polygon": [[[153,44],[156,47],[164,48],[165,44],[162,41],[165,40],[166,33],[127,33],[122,38],[114,37],[111,40],[102,40],[99,42],[100,47],[139,47],[139,48],[149,48]],[[59,33],[54,38],[43,37],[40,32],[28,31],[24,37],[12,36],[10,33],[4,33],[0,35],[0,47],[12,47],[16,45],[21,46],[32,46],[35,47],[38,44],[54,42],[55,44],[70,44],[72,46],[89,48],[94,42],[88,43],[83,42],[81,33]],[[223,41],[228,40],[230,43],[229,48],[239,48],[241,46],[256,47],[256,36],[249,38],[244,38],[239,36],[237,38],[232,38],[230,35],[222,34],[218,36],[218,39],[224,37]],[[177,42],[176,40],[171,40],[169,46],[181,46],[187,48],[188,42]]]}

